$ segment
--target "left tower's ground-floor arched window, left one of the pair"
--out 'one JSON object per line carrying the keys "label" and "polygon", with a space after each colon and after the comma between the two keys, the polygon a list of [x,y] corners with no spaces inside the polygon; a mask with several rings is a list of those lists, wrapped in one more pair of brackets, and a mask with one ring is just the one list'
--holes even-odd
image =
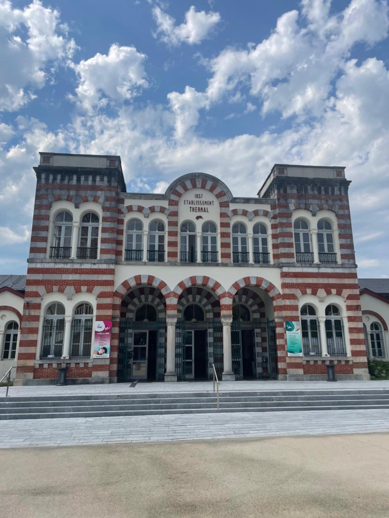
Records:
{"label": "left tower's ground-floor arched window, left one of the pair", "polygon": [[65,308],[54,302],[46,310],[43,323],[41,358],[60,358],[65,329]]}

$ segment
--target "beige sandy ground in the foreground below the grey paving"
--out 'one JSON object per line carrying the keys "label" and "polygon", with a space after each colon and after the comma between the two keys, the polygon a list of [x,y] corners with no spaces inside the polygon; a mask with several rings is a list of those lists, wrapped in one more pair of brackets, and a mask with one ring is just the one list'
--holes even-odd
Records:
{"label": "beige sandy ground in the foreground below the grey paving", "polygon": [[5,518],[389,516],[389,434],[0,451]]}

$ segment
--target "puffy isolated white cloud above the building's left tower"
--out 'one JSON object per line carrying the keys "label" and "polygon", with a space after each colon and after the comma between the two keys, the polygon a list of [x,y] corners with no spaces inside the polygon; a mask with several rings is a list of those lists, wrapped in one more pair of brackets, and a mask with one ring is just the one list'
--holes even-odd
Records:
{"label": "puffy isolated white cloud above the building's left tower", "polygon": [[87,110],[104,107],[109,100],[123,102],[146,88],[145,54],[135,47],[114,44],[108,54],[97,53],[89,60],[71,63],[78,78],[76,102]]}

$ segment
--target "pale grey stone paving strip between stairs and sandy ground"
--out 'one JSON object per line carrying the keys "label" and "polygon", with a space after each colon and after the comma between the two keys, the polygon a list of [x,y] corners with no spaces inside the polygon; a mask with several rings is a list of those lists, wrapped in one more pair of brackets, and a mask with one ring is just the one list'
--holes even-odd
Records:
{"label": "pale grey stone paving strip between stairs and sandy ground", "polygon": [[386,410],[312,410],[0,421],[0,448],[389,431]]}

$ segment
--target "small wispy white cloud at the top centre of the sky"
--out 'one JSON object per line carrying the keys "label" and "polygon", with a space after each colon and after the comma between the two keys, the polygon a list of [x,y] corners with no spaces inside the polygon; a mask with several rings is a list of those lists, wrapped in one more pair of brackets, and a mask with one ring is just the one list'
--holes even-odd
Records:
{"label": "small wispy white cloud at the top centre of the sky", "polygon": [[218,12],[196,11],[193,5],[185,13],[185,23],[180,25],[176,25],[175,19],[158,6],[152,9],[152,15],[157,23],[155,36],[160,35],[161,41],[173,46],[181,43],[199,45],[220,22]]}

